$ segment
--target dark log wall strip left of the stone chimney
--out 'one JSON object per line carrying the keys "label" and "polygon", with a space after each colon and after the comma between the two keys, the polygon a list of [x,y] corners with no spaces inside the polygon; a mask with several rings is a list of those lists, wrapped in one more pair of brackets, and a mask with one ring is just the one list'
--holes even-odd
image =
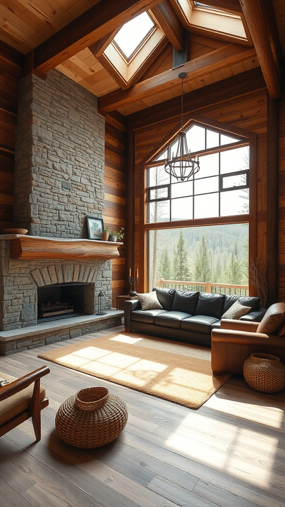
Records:
{"label": "dark log wall strip left of the stone chimney", "polygon": [[18,82],[23,65],[23,55],[0,41],[0,232],[13,227]]}

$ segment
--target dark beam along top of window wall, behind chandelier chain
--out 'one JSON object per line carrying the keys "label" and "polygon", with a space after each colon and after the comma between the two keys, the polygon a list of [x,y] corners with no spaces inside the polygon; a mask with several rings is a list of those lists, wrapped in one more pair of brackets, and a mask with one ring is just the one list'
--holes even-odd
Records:
{"label": "dark beam along top of window wall, behind chandelier chain", "polygon": [[[221,104],[233,98],[245,96],[260,90],[266,90],[260,67],[244,73],[197,88],[184,95],[184,112],[194,113],[207,106]],[[138,130],[162,121],[180,118],[181,97],[174,97],[166,102],[147,107],[142,111],[126,117],[127,129]]]}

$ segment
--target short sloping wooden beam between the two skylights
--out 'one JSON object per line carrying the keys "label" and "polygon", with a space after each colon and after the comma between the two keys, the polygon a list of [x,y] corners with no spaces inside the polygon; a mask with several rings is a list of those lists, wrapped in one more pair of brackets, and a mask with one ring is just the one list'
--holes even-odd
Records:
{"label": "short sloping wooden beam between the two skylights", "polygon": [[176,51],[184,47],[184,28],[172,5],[165,0],[154,6],[151,13]]}

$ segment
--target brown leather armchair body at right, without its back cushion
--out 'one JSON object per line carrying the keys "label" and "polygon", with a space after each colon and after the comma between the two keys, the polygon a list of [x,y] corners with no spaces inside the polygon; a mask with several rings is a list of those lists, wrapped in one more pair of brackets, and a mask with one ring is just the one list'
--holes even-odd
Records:
{"label": "brown leather armchair body at right, without its back cushion", "polygon": [[257,333],[259,322],[221,320],[221,329],[212,330],[213,375],[242,373],[243,363],[254,352],[279,357],[285,363],[285,337]]}

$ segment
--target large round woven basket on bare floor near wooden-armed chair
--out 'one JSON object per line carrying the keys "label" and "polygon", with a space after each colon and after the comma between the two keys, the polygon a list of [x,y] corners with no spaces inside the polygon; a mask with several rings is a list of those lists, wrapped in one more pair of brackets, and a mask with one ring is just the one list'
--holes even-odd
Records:
{"label": "large round woven basket on bare floor near wooden-armed chair", "polygon": [[125,402],[105,387],[81,389],[60,405],[55,427],[74,447],[93,449],[115,440],[128,419]]}

